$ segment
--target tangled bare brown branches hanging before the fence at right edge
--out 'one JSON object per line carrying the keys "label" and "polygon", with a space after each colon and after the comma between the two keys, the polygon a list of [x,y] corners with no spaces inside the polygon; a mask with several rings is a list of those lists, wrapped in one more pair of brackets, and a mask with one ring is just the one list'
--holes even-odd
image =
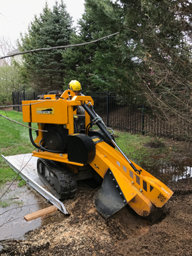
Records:
{"label": "tangled bare brown branches hanging before the fence at right edge", "polygon": [[[189,48],[191,44],[189,44]],[[187,49],[187,46],[186,48]],[[162,58],[148,56],[142,92],[158,119],[166,122],[166,130],[174,128],[177,138],[192,138],[192,60],[162,50]],[[189,54],[190,55],[190,52]]]}

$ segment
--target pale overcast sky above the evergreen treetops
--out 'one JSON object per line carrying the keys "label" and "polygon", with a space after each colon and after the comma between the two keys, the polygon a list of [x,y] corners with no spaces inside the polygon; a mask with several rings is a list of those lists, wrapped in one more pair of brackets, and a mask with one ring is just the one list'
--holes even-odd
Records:
{"label": "pale overcast sky above the evergreen treetops", "polygon": [[[68,13],[77,22],[84,11],[84,0],[63,0]],[[17,40],[20,32],[28,31],[34,15],[42,12],[46,2],[52,8],[55,0],[0,0],[0,37]]]}

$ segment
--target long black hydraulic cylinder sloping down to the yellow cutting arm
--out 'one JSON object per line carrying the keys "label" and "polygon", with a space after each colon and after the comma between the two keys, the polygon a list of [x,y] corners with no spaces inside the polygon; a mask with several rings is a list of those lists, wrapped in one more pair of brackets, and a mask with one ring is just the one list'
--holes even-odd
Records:
{"label": "long black hydraulic cylinder sloping down to the yellow cutting arm", "polygon": [[[95,115],[95,113],[91,110],[91,108],[89,108],[88,104],[84,103],[82,104],[83,108],[85,109],[85,111],[87,111],[87,113],[89,114],[89,116],[94,120],[95,118],[98,118],[98,116]],[[124,152],[121,150],[121,148],[119,148],[119,146],[115,143],[115,141],[113,140],[113,137],[111,136],[111,134],[109,134],[104,126],[104,124],[98,120],[97,121],[97,126],[100,128],[100,130],[105,134],[105,136],[111,140],[111,142],[113,143],[114,146],[116,146],[116,148],[118,149],[118,151],[120,153],[122,153],[122,155],[125,157],[125,159],[130,163],[131,167],[134,169],[134,171],[138,174],[141,173],[141,170],[136,169],[136,167],[132,164],[132,162],[130,161],[130,159],[128,159],[128,157],[126,157],[126,155],[124,154]]]}

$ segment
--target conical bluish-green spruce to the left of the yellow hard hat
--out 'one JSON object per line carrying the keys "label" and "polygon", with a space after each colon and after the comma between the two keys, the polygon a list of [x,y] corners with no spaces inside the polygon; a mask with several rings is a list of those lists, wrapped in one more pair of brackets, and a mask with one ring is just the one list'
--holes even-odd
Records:
{"label": "conical bluish-green spruce to the left of the yellow hard hat", "polygon": [[[21,36],[21,50],[68,45],[71,32],[72,19],[63,1],[56,1],[52,10],[46,3],[40,16],[35,16],[31,22],[28,34]],[[62,62],[63,51],[55,49],[23,55],[28,81],[36,91],[62,89],[66,69]]]}

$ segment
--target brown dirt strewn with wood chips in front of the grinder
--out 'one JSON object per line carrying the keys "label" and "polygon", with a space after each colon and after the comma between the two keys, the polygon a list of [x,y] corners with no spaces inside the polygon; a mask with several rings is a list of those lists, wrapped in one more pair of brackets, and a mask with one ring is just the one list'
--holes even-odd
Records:
{"label": "brown dirt strewn with wood chips in front of the grinder", "polygon": [[[181,142],[174,143],[179,155],[191,155],[190,144],[182,143],[182,149]],[[171,140],[169,144],[173,146]],[[70,216],[55,212],[60,223],[28,232],[26,240],[0,241],[0,255],[191,255],[192,178],[169,187],[174,194],[166,203],[166,216],[151,224],[128,206],[104,220],[92,202],[97,189],[79,182],[75,199],[64,202]]]}

